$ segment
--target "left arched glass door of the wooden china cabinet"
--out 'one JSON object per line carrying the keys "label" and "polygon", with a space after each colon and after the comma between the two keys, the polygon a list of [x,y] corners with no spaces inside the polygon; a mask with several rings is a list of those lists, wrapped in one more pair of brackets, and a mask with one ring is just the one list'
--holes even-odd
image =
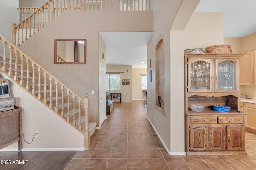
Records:
{"label": "left arched glass door of the wooden china cabinet", "polygon": [[213,59],[188,58],[188,92],[212,92]]}

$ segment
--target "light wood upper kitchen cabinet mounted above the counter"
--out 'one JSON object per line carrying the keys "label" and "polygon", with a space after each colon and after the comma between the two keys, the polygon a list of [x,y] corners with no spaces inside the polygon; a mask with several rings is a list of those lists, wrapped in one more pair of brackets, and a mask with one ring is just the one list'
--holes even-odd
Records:
{"label": "light wood upper kitchen cabinet mounted above the counter", "polygon": [[256,84],[256,50],[242,53],[240,59],[240,84]]}

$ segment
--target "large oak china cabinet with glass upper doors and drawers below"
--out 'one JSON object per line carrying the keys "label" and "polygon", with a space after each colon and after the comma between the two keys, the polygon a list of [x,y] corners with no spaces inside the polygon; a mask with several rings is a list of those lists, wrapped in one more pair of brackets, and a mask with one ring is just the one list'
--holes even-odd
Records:
{"label": "large oak china cabinet with glass upper doors and drawers below", "polygon": [[[185,151],[187,155],[246,154],[240,112],[238,54],[185,54]],[[203,104],[195,112],[191,104]],[[231,106],[218,112],[212,105]]]}

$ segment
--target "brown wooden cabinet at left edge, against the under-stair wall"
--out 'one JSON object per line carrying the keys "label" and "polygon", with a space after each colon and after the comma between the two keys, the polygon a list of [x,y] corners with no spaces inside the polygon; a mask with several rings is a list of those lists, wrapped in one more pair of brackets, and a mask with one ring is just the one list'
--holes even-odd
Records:
{"label": "brown wooden cabinet at left edge, against the under-stair wall", "polygon": [[22,149],[22,108],[0,112],[0,149],[18,141]]}

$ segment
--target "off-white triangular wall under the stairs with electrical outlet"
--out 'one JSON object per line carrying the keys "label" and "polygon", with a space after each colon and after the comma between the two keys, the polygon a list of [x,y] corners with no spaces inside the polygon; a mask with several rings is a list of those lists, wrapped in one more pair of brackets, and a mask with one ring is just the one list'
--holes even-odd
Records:
{"label": "off-white triangular wall under the stairs with electrical outlet", "polygon": [[[2,73],[1,76],[4,77]],[[39,137],[35,137],[32,144],[23,141],[22,151],[84,150],[84,135],[80,131],[18,84],[12,80],[10,82],[14,104],[22,107],[22,133],[25,140],[31,142],[35,131],[39,131]],[[14,143],[0,151],[15,151],[18,150],[17,146],[18,144]]]}

